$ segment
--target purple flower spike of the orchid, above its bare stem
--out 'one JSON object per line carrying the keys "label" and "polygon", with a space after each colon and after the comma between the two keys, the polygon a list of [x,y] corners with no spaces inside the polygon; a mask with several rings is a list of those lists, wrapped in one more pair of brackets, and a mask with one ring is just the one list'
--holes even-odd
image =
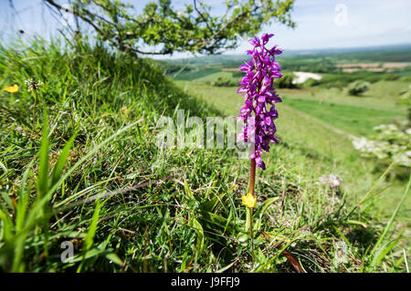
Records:
{"label": "purple flower spike of the orchid, above its bare stem", "polygon": [[[275,133],[277,131],[274,120],[279,117],[274,103],[281,102],[279,96],[273,88],[275,78],[281,78],[282,74],[279,63],[275,61],[275,56],[282,53],[277,46],[271,49],[266,45],[272,34],[263,34],[261,38],[255,36],[249,40],[253,45],[252,50],[247,53],[251,56],[248,63],[241,65],[239,69],[246,73],[238,84],[237,93],[245,97],[245,105],[240,109],[239,118],[244,121],[246,126],[239,134],[238,140],[246,142],[254,141],[254,151],[250,152],[250,159],[257,163],[258,168],[266,169],[261,155],[263,151],[269,151],[269,143],[278,143]],[[268,105],[270,108],[268,109]],[[253,140],[254,137],[254,140]]]}

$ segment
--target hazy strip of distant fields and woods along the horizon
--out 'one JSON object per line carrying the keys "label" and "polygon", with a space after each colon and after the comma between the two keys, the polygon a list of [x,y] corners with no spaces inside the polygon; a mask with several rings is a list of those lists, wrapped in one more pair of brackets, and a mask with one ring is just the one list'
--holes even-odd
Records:
{"label": "hazy strip of distant fields and woods along the horizon", "polygon": [[[165,67],[173,68],[170,76],[177,80],[203,78],[219,71],[236,72],[245,55],[218,55],[192,57],[163,61]],[[287,71],[312,73],[395,73],[411,75],[411,45],[400,47],[369,47],[362,49],[285,51],[278,57],[282,68]],[[176,68],[183,71],[174,77]],[[170,70],[169,70],[170,72]]]}

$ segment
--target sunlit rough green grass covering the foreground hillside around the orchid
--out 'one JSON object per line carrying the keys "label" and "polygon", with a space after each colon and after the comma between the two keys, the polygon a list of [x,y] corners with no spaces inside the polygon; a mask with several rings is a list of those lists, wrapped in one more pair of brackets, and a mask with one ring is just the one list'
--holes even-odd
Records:
{"label": "sunlit rough green grass covering the foreground hillside around the orchid", "polygon": [[[241,204],[249,162],[235,151],[155,145],[157,120],[176,109],[237,114],[232,88],[175,86],[149,59],[84,44],[0,47],[0,60],[1,88],[20,86],[0,92],[2,271],[294,272],[283,250],[304,272],[405,269],[395,215],[385,220],[373,200],[353,208],[378,174],[323,120],[279,107],[281,143],[258,171],[252,265]],[[27,78],[45,83],[37,106]],[[341,192],[317,183],[334,172]],[[63,263],[68,241],[74,257]]]}

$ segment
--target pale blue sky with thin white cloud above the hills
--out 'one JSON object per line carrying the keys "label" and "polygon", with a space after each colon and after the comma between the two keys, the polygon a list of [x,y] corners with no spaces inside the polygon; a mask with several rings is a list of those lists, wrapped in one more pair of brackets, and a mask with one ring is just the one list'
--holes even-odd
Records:
{"label": "pale blue sky with thin white cloud above the hills", "polygon": [[[148,0],[130,1],[142,7]],[[3,39],[24,29],[27,36],[48,37],[56,33],[58,17],[51,16],[41,0],[13,0],[16,13],[8,1],[0,0],[0,32]],[[59,1],[64,3],[64,1]],[[174,1],[178,9],[184,1]],[[224,1],[207,0],[218,13]],[[16,17],[15,17],[16,16]],[[335,47],[369,47],[411,43],[410,0],[296,0],[292,19],[297,28],[273,24],[263,31],[276,35],[274,42],[284,49]],[[243,53],[247,39],[227,53]],[[174,57],[186,57],[176,54]]]}

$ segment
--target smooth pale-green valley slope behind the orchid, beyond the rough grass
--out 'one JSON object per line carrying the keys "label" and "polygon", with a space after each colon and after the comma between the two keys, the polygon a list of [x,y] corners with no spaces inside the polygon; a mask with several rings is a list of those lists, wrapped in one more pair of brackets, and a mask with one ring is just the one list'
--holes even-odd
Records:
{"label": "smooth pale-green valley slope behind the orchid, beyond the rough grass", "polygon": [[[229,116],[237,115],[244,102],[236,88],[212,87],[201,82],[177,83]],[[346,96],[336,88],[279,89],[283,98],[278,105],[281,142],[275,148],[287,152],[287,147],[291,146],[294,157],[305,161],[301,164],[315,172],[317,178],[321,174],[338,173],[350,199],[358,199],[372,187],[382,171],[375,171],[374,161],[359,156],[353,149],[351,137],[369,136],[376,125],[406,119],[406,108],[395,104],[396,92],[404,86],[404,82],[378,82],[364,98]],[[287,145],[286,149],[282,144]],[[266,156],[270,159],[269,154]],[[312,171],[313,168],[318,171]],[[401,200],[404,181],[391,179],[386,185],[390,187],[374,203],[380,212],[389,215]],[[406,205],[410,202],[408,197],[408,204],[401,212],[402,222],[408,227],[411,225],[410,209]]]}

